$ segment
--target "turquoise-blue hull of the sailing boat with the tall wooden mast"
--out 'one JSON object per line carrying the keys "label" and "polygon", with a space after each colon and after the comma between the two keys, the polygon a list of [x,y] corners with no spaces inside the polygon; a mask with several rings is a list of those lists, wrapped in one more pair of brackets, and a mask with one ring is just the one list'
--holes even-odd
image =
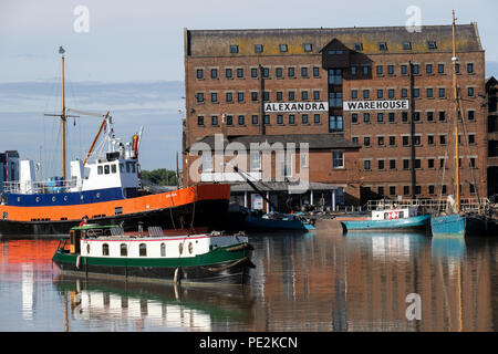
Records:
{"label": "turquoise-blue hull of the sailing boat with the tall wooden mast", "polygon": [[430,218],[433,237],[457,237],[486,235],[486,220],[474,215],[450,214]]}

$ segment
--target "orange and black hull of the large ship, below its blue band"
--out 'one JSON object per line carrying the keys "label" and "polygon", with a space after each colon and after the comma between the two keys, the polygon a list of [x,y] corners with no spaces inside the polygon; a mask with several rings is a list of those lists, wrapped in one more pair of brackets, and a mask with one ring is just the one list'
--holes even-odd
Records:
{"label": "orange and black hull of the large ship, below its blue band", "polygon": [[[164,230],[186,229],[191,225],[207,230],[220,229],[228,214],[229,196],[229,186],[208,185],[194,190],[185,188],[80,206],[0,206],[0,211],[8,216],[0,219],[0,236],[66,236],[72,227],[80,225],[84,215],[92,223],[122,225],[125,231],[136,230],[138,222],[143,222],[144,229],[148,226]],[[116,207],[123,212],[116,215]]]}

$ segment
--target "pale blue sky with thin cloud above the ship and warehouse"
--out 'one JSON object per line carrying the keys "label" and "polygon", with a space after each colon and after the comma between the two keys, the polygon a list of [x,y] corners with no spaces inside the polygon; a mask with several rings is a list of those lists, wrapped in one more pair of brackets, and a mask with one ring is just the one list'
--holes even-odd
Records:
{"label": "pale blue sky with thin cloud above the ship and warehouse", "polygon": [[[68,106],[111,111],[124,140],[144,126],[143,168],[174,168],[181,149],[185,28],[405,25],[411,6],[423,25],[450,24],[453,9],[457,23],[477,21],[486,73],[498,74],[496,0],[0,0],[0,150],[17,149],[48,167],[54,159],[45,145],[56,143],[58,125],[43,113],[60,110],[60,45]],[[97,121],[73,123],[75,156],[90,147]]]}

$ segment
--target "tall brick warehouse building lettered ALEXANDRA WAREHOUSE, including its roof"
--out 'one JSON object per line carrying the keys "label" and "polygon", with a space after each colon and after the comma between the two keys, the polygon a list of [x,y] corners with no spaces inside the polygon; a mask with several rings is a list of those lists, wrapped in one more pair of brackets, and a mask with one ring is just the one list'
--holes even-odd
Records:
{"label": "tall brick warehouse building lettered ALEXANDRA WAREHOUSE, including its roof", "polygon": [[[344,152],[340,167],[354,169],[340,181],[352,204],[454,194],[450,25],[413,33],[404,27],[185,30],[184,37],[185,171],[189,147],[217,133],[328,134],[361,146],[356,164]],[[485,197],[485,52],[476,23],[457,25],[456,38],[461,196]],[[334,152],[342,150],[323,158]],[[315,168],[312,181],[338,183]]]}

